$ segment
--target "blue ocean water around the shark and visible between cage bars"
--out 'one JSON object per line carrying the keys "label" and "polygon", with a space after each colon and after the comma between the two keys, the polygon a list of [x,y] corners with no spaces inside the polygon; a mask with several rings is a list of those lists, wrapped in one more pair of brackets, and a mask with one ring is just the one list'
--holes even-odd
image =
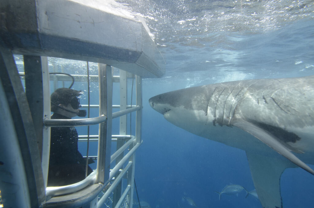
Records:
{"label": "blue ocean water around the shark and visible between cage bars", "polygon": [[[313,1],[119,0],[112,5],[145,20],[164,57],[159,64],[166,70],[162,78],[143,79],[143,144],[136,153],[135,170],[140,201],[152,208],[191,207],[182,197],[204,208],[262,207],[253,197],[245,198],[244,191],[239,196],[222,195],[220,201],[214,193],[230,183],[254,189],[245,151],[174,126],[149,106],[148,99],[171,90],[231,80],[313,75]],[[86,74],[86,62],[50,58],[49,64],[51,71],[61,71],[62,66],[65,72]],[[96,75],[97,64],[89,67]],[[129,90],[131,86],[128,80]],[[87,104],[87,84],[75,82],[73,89],[84,91],[81,104]],[[134,98],[133,94],[133,104]],[[91,100],[91,104],[98,102],[95,83],[91,84]],[[114,93],[113,103],[119,103],[118,94]],[[92,109],[91,117],[97,114]],[[133,134],[134,118],[133,113]],[[117,126],[114,119],[113,134],[118,134]],[[87,132],[86,127],[77,129],[81,135]],[[98,126],[91,126],[90,131],[97,134]],[[79,144],[79,150],[84,155],[86,146]],[[89,154],[96,152],[97,146],[91,144]],[[280,180],[283,207],[312,207],[313,184],[314,177],[308,172],[286,169]]]}

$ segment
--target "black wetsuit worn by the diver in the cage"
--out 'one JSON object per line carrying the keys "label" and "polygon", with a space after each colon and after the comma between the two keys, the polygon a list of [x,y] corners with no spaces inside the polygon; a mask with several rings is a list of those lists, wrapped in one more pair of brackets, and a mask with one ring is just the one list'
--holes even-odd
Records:
{"label": "black wetsuit worn by the diver in the cage", "polygon": [[[54,113],[51,119],[69,119]],[[78,151],[75,127],[51,127],[48,186],[64,186],[85,178],[86,160]],[[93,170],[88,166],[87,173]]]}

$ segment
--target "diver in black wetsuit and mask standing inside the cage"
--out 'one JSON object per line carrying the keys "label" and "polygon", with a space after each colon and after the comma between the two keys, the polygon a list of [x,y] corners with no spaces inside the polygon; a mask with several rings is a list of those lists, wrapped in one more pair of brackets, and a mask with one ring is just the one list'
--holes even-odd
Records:
{"label": "diver in black wetsuit and mask standing inside the cage", "polygon": [[[79,110],[82,91],[59,88],[51,94],[51,119],[85,117]],[[89,161],[89,164],[94,161]],[[78,133],[75,127],[51,127],[50,159],[47,186],[64,186],[85,178],[86,159],[78,151]],[[87,174],[93,172],[88,166]]]}

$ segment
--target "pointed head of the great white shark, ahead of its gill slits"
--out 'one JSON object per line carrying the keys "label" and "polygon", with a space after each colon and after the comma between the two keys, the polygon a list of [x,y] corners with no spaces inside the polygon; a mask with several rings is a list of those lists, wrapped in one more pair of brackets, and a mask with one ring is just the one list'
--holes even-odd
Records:
{"label": "pointed head of the great white shark, ahead of its gill slits", "polygon": [[[208,100],[211,92],[206,86],[191,87],[154,96],[149,104],[174,125],[192,133],[208,127]],[[213,119],[209,118],[209,122]]]}

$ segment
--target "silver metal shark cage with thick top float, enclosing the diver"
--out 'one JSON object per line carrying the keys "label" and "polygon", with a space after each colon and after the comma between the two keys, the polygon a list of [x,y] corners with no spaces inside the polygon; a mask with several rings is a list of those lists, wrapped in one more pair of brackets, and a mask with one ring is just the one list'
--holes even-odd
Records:
{"label": "silver metal shark cage with thick top float, enclosing the diver", "polygon": [[[164,73],[147,25],[70,0],[4,0],[0,10],[0,206],[132,208],[135,151],[142,144],[142,78]],[[74,60],[86,63],[86,73],[66,71],[63,63]],[[90,75],[91,64],[96,69]],[[127,105],[133,91],[127,80],[133,78],[135,104]],[[88,85],[88,95],[89,86],[96,86],[97,99],[82,107],[97,116],[51,119],[51,92],[74,80]],[[119,104],[113,105],[113,96]],[[135,132],[127,135],[131,112]],[[96,146],[85,157],[97,166],[82,181],[47,187],[50,130],[65,126],[94,129],[79,135],[79,145]]]}

